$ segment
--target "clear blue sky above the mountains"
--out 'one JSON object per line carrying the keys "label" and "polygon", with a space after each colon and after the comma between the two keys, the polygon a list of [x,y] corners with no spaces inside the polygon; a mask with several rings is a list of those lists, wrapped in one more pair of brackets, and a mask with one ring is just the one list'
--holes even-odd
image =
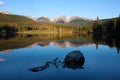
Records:
{"label": "clear blue sky above the mountains", "polygon": [[34,17],[111,18],[120,14],[120,0],[0,0],[0,11]]}

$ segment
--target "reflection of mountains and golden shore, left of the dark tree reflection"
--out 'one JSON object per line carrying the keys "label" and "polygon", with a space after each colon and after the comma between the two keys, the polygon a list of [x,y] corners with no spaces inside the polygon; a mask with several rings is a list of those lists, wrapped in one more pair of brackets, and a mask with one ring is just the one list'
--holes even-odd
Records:
{"label": "reflection of mountains and golden shore, left of the dark tree reflection", "polygon": [[79,35],[79,34],[40,34],[40,35],[29,35],[29,34],[17,34],[4,36],[0,38],[0,51],[10,51],[17,48],[25,48],[32,46],[47,47],[49,45],[57,45],[61,48],[72,46],[78,47],[80,45],[92,44],[91,36]]}

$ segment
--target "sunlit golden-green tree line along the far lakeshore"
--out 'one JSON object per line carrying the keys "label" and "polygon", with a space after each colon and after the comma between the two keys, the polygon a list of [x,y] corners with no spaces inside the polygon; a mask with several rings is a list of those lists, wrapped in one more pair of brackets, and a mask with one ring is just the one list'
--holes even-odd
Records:
{"label": "sunlit golden-green tree line along the far lakeshore", "polygon": [[68,24],[53,24],[45,22],[34,22],[34,23],[1,23],[0,33],[15,33],[15,32],[26,32],[26,31],[45,31],[53,33],[81,33],[86,34],[92,31],[89,26],[79,27]]}

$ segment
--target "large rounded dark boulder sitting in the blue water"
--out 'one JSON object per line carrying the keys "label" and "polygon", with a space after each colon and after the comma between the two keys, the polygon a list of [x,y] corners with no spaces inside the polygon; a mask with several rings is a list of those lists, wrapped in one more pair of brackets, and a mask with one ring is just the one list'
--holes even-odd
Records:
{"label": "large rounded dark boulder sitting in the blue water", "polygon": [[82,52],[80,51],[72,51],[66,55],[64,59],[64,66],[72,69],[82,68],[85,62],[85,58]]}

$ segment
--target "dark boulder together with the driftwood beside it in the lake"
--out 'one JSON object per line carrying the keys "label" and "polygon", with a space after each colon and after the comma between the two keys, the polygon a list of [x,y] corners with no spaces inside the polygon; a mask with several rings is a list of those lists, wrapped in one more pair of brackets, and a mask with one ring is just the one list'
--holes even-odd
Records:
{"label": "dark boulder together with the driftwood beside it in the lake", "polygon": [[32,72],[43,71],[50,67],[50,65],[54,65],[56,68],[62,66],[63,68],[70,69],[83,69],[83,65],[85,62],[85,58],[82,52],[80,51],[72,51],[65,56],[64,61],[60,61],[59,58],[55,58],[53,61],[46,61],[43,66],[34,67],[29,69]]}

